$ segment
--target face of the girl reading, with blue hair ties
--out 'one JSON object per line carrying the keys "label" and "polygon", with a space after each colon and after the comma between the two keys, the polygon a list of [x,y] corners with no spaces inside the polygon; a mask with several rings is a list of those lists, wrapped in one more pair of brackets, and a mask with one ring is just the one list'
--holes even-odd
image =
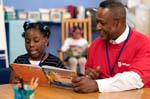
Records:
{"label": "face of the girl reading, with blue hair ties", "polygon": [[48,38],[40,30],[31,28],[25,33],[25,47],[31,60],[41,60],[48,45]]}

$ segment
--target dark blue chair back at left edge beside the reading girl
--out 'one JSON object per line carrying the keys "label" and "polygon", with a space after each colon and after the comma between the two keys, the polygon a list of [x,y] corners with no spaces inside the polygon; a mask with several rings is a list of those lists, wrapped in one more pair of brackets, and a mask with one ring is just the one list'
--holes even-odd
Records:
{"label": "dark blue chair back at left edge beside the reading girl", "polygon": [[10,72],[10,68],[0,68],[0,84],[9,83]]}

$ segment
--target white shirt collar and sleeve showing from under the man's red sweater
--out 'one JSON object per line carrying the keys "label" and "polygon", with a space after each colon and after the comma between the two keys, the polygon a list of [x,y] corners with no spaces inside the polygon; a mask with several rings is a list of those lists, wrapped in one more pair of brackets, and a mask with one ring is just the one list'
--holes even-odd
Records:
{"label": "white shirt collar and sleeve showing from under the man's red sweater", "polygon": [[[119,44],[127,39],[129,27],[116,39],[110,40],[112,44]],[[128,78],[128,79],[127,79]],[[133,71],[118,73],[114,77],[96,80],[100,92],[117,92],[142,88],[144,83],[141,77]]]}

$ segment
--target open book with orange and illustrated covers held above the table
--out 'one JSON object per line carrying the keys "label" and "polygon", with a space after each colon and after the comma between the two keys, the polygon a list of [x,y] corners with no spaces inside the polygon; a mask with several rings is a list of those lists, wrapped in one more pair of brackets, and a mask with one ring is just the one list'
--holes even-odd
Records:
{"label": "open book with orange and illustrated covers held above the table", "polygon": [[72,87],[72,77],[76,72],[72,70],[56,68],[54,66],[36,66],[31,64],[11,64],[15,74],[21,76],[25,83],[30,83],[34,77],[39,78],[40,85],[53,84],[61,87]]}

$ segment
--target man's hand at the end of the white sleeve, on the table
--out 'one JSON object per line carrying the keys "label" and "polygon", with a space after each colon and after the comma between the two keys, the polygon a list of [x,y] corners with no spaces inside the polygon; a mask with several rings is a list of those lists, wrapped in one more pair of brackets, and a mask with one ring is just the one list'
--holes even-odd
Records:
{"label": "man's hand at the end of the white sleeve, on the table", "polygon": [[98,91],[98,85],[95,80],[90,77],[81,76],[75,77],[72,80],[73,90],[81,93],[95,92]]}

